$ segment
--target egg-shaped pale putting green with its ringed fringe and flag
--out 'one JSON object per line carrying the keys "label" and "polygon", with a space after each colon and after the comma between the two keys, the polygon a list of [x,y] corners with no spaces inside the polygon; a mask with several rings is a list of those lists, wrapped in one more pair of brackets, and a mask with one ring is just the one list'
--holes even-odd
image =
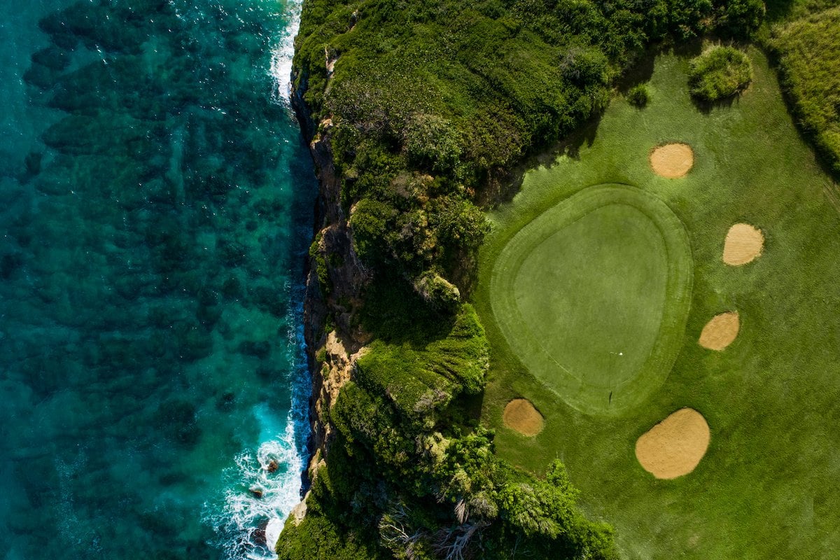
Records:
{"label": "egg-shaped pale putting green with its ringed fringe and flag", "polygon": [[491,305],[513,352],[575,409],[618,414],[667,378],[692,283],[685,228],[632,186],[591,186],[501,250]]}

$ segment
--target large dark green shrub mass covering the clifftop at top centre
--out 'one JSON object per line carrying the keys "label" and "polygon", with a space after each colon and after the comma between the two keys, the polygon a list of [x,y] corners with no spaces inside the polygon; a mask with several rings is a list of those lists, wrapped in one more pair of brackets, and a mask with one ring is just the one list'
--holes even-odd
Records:
{"label": "large dark green shrub mass covering the clifftop at top centre", "polygon": [[762,13],[760,0],[307,0],[296,86],[332,120],[344,206],[376,203],[356,218],[365,264],[419,286],[480,244],[476,193],[601,111],[650,41],[748,34]]}

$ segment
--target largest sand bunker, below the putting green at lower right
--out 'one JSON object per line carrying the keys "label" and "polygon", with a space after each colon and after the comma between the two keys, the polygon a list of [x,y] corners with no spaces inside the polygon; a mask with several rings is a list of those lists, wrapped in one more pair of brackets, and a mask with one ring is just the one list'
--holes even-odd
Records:
{"label": "largest sand bunker, below the putting green at lower right", "polygon": [[657,479],[689,474],[709,447],[709,425],[693,408],[681,408],[636,442],[636,458]]}

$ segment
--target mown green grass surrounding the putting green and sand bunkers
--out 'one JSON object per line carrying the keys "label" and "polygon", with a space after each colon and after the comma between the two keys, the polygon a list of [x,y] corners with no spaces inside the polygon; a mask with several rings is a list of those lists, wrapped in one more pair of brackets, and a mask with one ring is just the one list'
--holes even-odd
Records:
{"label": "mown green grass surrounding the putting green and sand bunkers", "polygon": [[[748,90],[729,106],[706,110],[690,100],[688,59],[659,56],[648,82],[648,106],[615,100],[573,155],[529,171],[513,201],[492,214],[494,230],[480,255],[475,303],[491,340],[483,419],[496,428],[497,452],[538,473],[562,459],[587,510],[615,526],[627,558],[811,559],[836,557],[840,550],[837,186],[796,133],[764,56],[756,50],[750,56],[754,77]],[[685,142],[695,151],[695,165],[684,178],[665,179],[648,166],[649,151],[668,142]],[[522,351],[507,342],[509,327],[496,322],[496,307],[505,304],[496,301],[494,279],[497,263],[512,259],[505,248],[528,232],[528,224],[539,224],[562,201],[603,184],[638,187],[679,217],[694,280],[685,329],[678,322],[673,327],[677,355],[662,385],[637,406],[590,415],[567,404],[569,395],[560,396],[544,374],[529,371],[534,366],[527,358],[517,358]],[[731,267],[723,264],[722,249],[736,222],[760,228],[765,244],[759,259]],[[565,233],[574,238],[603,235],[585,231],[597,229],[595,223],[568,228]],[[636,254],[644,244],[621,240],[614,250]],[[569,247],[559,250],[574,261]],[[661,265],[650,255],[643,258]],[[551,260],[544,254],[542,259]],[[534,284],[543,292],[554,286],[539,284],[555,278],[556,290],[572,292],[543,299],[543,313],[564,297],[591,298],[587,292],[597,273],[581,280],[564,275],[559,263],[539,270],[534,261],[532,268],[529,274],[542,279]],[[607,281],[598,278],[596,286]],[[539,317],[540,301],[529,305],[533,336],[542,328],[562,344],[560,332],[544,327],[550,321]],[[722,352],[701,348],[703,326],[724,311],[740,314],[738,338]],[[605,333],[599,348],[606,348],[616,327],[598,321],[587,328]],[[640,328],[641,339],[649,332]],[[634,351],[643,353],[643,344]],[[518,396],[545,416],[536,437],[502,425],[504,406]],[[682,407],[708,421],[708,452],[692,473],[654,479],[635,458],[635,442]]]}

